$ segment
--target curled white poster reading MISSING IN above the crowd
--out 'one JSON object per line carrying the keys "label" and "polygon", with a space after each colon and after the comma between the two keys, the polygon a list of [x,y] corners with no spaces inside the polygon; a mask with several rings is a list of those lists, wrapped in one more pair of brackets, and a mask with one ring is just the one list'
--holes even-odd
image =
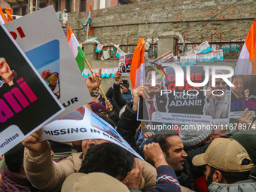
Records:
{"label": "curled white poster reading MISSING IN above the crowd", "polygon": [[109,123],[102,120],[88,108],[84,108],[84,114],[73,111],[61,119],[54,120],[44,126],[42,131],[43,140],[50,139],[56,142],[105,139],[142,159]]}

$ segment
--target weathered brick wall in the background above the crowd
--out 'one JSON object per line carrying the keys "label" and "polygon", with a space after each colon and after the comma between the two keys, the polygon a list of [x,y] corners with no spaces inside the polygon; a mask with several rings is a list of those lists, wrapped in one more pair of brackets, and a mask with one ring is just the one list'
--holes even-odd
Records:
{"label": "weathered brick wall in the background above the crowd", "polygon": [[[88,12],[69,13],[68,27],[78,41],[86,39],[81,22]],[[105,8],[93,11],[93,36],[103,44],[137,44],[139,38],[158,38],[166,32],[179,32],[187,41],[230,41],[245,38],[256,17],[254,0],[157,0]],[[158,48],[158,50],[160,47]],[[85,50],[93,54],[90,48]],[[93,68],[117,66],[117,61],[88,60]],[[235,67],[236,62],[230,63]],[[113,78],[105,78],[102,87],[107,90]]]}

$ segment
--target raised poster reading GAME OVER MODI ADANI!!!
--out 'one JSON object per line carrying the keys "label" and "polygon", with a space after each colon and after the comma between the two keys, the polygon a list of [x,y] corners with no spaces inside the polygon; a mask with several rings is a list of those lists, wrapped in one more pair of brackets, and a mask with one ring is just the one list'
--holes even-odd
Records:
{"label": "raised poster reading GAME OVER MODI ADANI!!!", "polygon": [[[177,67],[182,70],[179,74],[171,66],[145,66],[144,84],[148,84],[151,93],[149,99],[140,100],[138,119],[160,123],[226,126],[230,113],[230,87],[227,83],[216,78],[215,86],[212,85],[211,66]],[[206,68],[209,69],[208,79]],[[190,72],[187,72],[188,69]],[[228,73],[218,70],[216,74],[219,72]],[[177,81],[183,81],[182,85],[177,86]]]}

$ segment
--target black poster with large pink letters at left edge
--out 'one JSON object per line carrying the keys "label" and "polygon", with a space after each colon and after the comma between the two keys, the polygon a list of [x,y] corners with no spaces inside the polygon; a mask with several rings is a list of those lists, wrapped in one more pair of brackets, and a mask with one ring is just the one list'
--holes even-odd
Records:
{"label": "black poster with large pink letters at left edge", "polygon": [[2,24],[0,44],[2,155],[64,109]]}

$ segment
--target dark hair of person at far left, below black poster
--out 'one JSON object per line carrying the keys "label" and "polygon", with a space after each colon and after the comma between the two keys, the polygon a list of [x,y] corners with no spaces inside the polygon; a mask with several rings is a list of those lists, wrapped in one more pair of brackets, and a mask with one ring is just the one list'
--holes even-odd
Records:
{"label": "dark hair of person at far left, below black poster", "polygon": [[20,172],[23,165],[24,145],[19,143],[5,153],[5,163],[11,172]]}

